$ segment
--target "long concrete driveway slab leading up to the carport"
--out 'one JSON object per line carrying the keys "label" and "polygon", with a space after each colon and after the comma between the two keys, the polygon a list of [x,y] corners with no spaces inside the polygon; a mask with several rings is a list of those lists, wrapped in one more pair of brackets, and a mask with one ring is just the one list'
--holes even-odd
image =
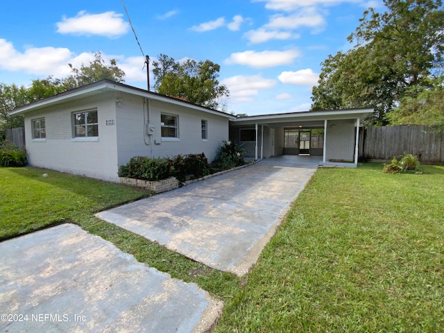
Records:
{"label": "long concrete driveway slab leading up to the carport", "polygon": [[263,160],[96,214],[197,262],[239,276],[248,272],[318,159]]}

